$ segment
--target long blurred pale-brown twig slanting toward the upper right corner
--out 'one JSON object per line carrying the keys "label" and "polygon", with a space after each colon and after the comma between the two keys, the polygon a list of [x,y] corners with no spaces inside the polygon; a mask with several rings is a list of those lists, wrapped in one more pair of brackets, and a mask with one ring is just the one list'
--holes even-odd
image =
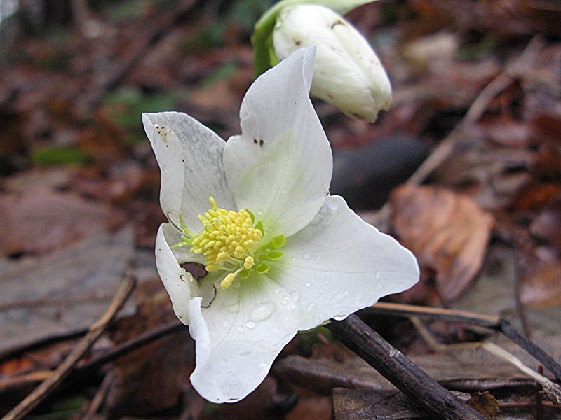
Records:
{"label": "long blurred pale-brown twig slanting toward the upper right corner", "polygon": [[[540,35],[534,36],[529,43],[526,45],[522,54],[515,59],[512,64],[506,66],[506,69],[496,76],[475,98],[475,101],[471,104],[466,115],[461,121],[454,127],[454,130],[447,135],[447,137],[440,142],[440,144],[434,149],[430,156],[417,168],[417,170],[410,176],[405,183],[407,185],[419,185],[422,183],[437,167],[439,167],[442,162],[444,162],[454,151],[457,141],[461,138],[464,130],[468,125],[476,123],[485,110],[489,107],[489,104],[493,101],[497,94],[506,89],[515,78],[519,77],[527,67],[529,62],[532,62],[537,52],[543,48],[543,37]],[[386,202],[384,206],[377,211],[374,216],[372,216],[372,224],[376,225],[381,230],[386,230],[388,217],[390,215],[391,209],[389,202]]]}

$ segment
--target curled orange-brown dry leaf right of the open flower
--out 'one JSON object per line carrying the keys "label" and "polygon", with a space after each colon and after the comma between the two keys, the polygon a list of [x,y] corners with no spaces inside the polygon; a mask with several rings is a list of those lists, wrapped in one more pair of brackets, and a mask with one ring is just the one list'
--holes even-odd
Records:
{"label": "curled orange-brown dry leaf right of the open flower", "polygon": [[435,270],[442,298],[457,299],[482,265],[492,216],[470,197],[433,186],[402,186],[391,195],[391,205],[402,244]]}

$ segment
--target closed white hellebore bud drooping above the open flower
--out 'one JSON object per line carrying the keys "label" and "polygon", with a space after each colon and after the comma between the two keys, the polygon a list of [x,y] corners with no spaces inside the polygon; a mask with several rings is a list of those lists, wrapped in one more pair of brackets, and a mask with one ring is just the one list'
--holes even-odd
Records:
{"label": "closed white hellebore bud drooping above the open flower", "polygon": [[278,59],[316,45],[311,95],[337,106],[347,116],[374,122],[389,109],[391,85],[376,53],[349,21],[330,8],[286,6],[273,31]]}

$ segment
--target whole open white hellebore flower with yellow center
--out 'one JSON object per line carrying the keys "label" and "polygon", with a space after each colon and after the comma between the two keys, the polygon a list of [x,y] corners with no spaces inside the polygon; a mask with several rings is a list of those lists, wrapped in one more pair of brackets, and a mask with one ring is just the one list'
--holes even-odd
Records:
{"label": "whole open white hellebore flower with yellow center", "polygon": [[[299,330],[410,288],[417,262],[328,195],[332,155],[309,99],[314,49],[255,80],[227,142],[184,113],[142,116],[169,223],[156,265],[196,340],[191,383],[235,402]],[[200,262],[198,281],[180,266]]]}

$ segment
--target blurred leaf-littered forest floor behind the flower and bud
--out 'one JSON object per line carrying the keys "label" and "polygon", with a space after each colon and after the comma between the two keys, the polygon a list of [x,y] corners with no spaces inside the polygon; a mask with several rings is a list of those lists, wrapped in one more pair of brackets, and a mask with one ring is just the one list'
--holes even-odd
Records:
{"label": "blurred leaf-littered forest floor behind the flower and bud", "polygon": [[[252,27],[272,3],[0,0],[0,412],[36,384],[3,381],[58,365],[127,269],[140,285],[93,355],[173,319],[154,267],[165,218],[140,114],[184,111],[238,134]],[[419,258],[421,283],[393,300],[508,316],[558,353],[559,1],[380,0],[347,17],[386,67],[393,105],[374,125],[314,105],[334,151],[331,193]],[[435,151],[424,186],[397,188]],[[398,348],[428,351],[409,323],[373,322]],[[442,342],[473,338],[432,327]],[[328,341],[302,336],[283,354],[347,357]],[[100,390],[92,416],[103,418],[334,413],[318,384],[295,393],[275,375],[236,405],[205,404],[192,363],[184,330],[62,388],[33,418],[83,417]]]}

